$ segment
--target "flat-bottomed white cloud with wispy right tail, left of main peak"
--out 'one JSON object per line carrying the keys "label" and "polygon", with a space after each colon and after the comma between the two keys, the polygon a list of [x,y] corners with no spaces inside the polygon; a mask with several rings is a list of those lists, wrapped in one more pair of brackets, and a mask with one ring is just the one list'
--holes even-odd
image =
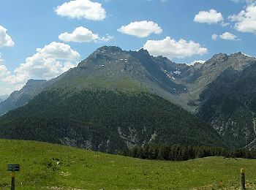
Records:
{"label": "flat-bottomed white cloud with wispy right tail, left of main peak", "polygon": [[94,34],[88,28],[80,26],[75,28],[72,33],[64,32],[59,35],[59,39],[64,42],[108,42],[113,37],[107,35],[106,37],[99,37],[99,34]]}

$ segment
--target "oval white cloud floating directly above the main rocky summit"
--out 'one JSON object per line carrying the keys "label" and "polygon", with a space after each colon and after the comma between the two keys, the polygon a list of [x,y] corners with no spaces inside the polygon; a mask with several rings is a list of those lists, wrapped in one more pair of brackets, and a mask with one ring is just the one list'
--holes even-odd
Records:
{"label": "oval white cloud floating directly above the main rocky summit", "polygon": [[153,21],[143,20],[129,23],[127,26],[121,26],[117,31],[135,37],[148,37],[150,34],[161,34],[162,28]]}

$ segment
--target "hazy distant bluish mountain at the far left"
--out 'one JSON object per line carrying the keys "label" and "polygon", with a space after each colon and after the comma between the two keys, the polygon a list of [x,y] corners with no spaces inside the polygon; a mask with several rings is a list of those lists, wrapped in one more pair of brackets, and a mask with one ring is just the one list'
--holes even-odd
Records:
{"label": "hazy distant bluish mountain at the far left", "polygon": [[29,80],[20,91],[12,92],[7,99],[0,103],[0,115],[28,103],[46,86],[48,86],[46,80]]}

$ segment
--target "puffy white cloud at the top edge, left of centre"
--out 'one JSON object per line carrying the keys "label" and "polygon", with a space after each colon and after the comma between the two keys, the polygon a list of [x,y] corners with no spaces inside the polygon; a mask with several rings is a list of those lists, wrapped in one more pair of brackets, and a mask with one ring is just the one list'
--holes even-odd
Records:
{"label": "puffy white cloud at the top edge, left of centre", "polygon": [[89,0],[74,0],[61,4],[55,9],[57,15],[87,20],[103,20],[106,11],[102,4]]}

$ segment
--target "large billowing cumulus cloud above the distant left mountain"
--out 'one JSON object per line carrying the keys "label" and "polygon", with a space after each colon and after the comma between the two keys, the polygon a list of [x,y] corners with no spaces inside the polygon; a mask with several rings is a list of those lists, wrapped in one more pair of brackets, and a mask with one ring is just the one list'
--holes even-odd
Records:
{"label": "large billowing cumulus cloud above the distant left mountain", "polygon": [[51,42],[43,48],[38,48],[37,53],[26,58],[25,63],[20,64],[11,75],[2,81],[12,85],[24,85],[30,78],[50,79],[57,77],[68,69],[76,66],[80,54],[69,45],[59,42]]}

